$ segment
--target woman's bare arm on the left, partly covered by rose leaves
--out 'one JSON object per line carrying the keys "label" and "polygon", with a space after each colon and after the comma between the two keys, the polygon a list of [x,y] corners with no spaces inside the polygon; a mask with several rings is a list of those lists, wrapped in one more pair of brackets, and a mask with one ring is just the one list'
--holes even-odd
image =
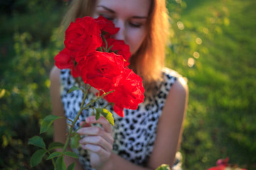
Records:
{"label": "woman's bare arm on the left, partly covered by rose leaves", "polygon": [[[50,72],[50,98],[53,107],[53,115],[64,116],[63,105],[60,100],[60,69],[53,67]],[[66,120],[58,119],[53,123],[54,135],[53,141],[65,143],[66,140]],[[56,149],[61,152],[61,149]],[[70,149],[71,150],[71,149]],[[78,162],[78,159],[73,159],[72,157],[65,157],[65,163],[68,166],[75,162],[75,170],[82,170],[82,166]]]}

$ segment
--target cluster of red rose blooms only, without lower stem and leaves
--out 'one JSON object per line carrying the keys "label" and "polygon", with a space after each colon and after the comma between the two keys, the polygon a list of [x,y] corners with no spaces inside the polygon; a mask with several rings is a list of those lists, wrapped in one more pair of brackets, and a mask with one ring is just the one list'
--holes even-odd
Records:
{"label": "cluster of red rose blooms only, without lower stem and leaves", "polygon": [[73,77],[100,91],[114,91],[105,99],[114,103],[114,112],[124,116],[123,109],[137,109],[144,99],[142,79],[128,69],[129,46],[111,35],[119,28],[104,17],[77,18],[65,32],[65,48],[55,57],[59,69],[71,69]]}

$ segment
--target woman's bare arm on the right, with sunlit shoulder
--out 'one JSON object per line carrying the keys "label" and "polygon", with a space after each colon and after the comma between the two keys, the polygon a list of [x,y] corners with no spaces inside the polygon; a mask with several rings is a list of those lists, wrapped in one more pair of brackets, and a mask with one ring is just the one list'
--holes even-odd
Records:
{"label": "woman's bare arm on the right, with sunlit shoulder", "polygon": [[188,86],[183,78],[178,78],[169,91],[159,119],[149,167],[156,169],[160,164],[174,164],[175,154],[181,143],[187,103]]}

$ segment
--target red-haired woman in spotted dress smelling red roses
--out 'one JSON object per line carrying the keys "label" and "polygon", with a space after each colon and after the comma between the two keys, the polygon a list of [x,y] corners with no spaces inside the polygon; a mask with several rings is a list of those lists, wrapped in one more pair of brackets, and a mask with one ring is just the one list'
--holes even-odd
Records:
{"label": "red-haired woman in spotted dress smelling red roses", "polygon": [[[161,164],[172,166],[181,141],[188,86],[176,72],[163,67],[168,31],[165,1],[73,0],[64,23],[78,17],[97,18],[100,15],[119,28],[112,38],[124,40],[129,45],[132,54],[129,67],[142,77],[145,99],[136,111],[124,109],[124,118],[113,114],[114,127],[105,118],[95,120],[90,111],[82,115],[76,128],[86,118],[87,125],[78,130],[85,137],[80,140],[80,148],[75,149],[80,155],[80,163],[70,157],[66,157],[65,162],[67,165],[76,162],[75,169],[146,170],[156,169]],[[76,83],[70,71],[54,67],[50,81],[53,114],[74,118],[82,94],[78,91],[67,93]],[[95,92],[92,89],[88,100]],[[102,128],[91,126],[92,123]],[[65,142],[65,127],[65,120],[54,123],[55,141]]]}

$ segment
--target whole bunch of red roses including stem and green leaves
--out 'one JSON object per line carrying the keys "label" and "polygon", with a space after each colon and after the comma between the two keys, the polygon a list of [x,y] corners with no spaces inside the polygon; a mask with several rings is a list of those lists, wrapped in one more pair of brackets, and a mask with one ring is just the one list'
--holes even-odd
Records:
{"label": "whole bunch of red roses including stem and green leaves", "polygon": [[[113,104],[114,112],[119,116],[124,116],[124,108],[137,109],[139,103],[144,100],[144,87],[142,78],[129,69],[129,46],[122,40],[114,40],[111,35],[119,31],[112,21],[100,16],[92,18],[85,16],[77,18],[75,22],[65,31],[65,48],[55,56],[55,66],[59,69],[70,69],[74,78],[81,77],[84,87],[74,86],[70,91],[81,90],[84,94],[80,111],[74,120],[71,121],[70,131],[65,145],[60,142],[52,142],[46,148],[43,138],[32,137],[28,144],[41,147],[31,157],[31,166],[36,166],[41,159],[48,155],[55,169],[65,169],[63,161],[64,155],[78,158],[74,152],[66,151],[68,144],[71,147],[78,147],[80,135],[73,132],[73,127],[82,113],[82,110],[93,108],[92,103],[99,98],[105,98]],[[99,90],[97,98],[89,103],[85,103],[85,98],[90,91],[90,87]],[[103,115],[112,125],[114,120],[112,113],[103,108],[95,109],[96,120]],[[41,123],[40,132],[46,132],[54,120],[59,117],[48,115]],[[55,148],[63,148],[63,152],[51,152]],[[75,164],[71,164],[68,169],[74,169]]]}

